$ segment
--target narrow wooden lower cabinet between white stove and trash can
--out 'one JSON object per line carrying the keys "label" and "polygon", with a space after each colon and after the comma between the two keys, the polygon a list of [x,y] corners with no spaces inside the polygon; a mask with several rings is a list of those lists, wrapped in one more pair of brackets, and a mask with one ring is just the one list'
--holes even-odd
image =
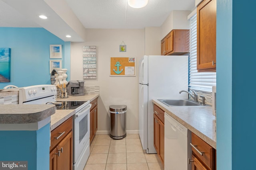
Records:
{"label": "narrow wooden lower cabinet between white stove and trash can", "polygon": [[92,143],[92,140],[96,134],[96,131],[98,129],[98,98],[94,99],[91,104],[92,107],[90,109],[90,143]]}

